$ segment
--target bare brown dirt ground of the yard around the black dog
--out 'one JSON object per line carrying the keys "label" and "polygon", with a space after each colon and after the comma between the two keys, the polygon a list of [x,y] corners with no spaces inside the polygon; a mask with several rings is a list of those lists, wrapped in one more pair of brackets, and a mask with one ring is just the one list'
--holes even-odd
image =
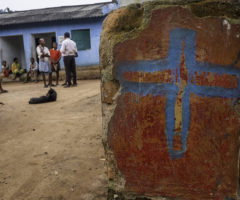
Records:
{"label": "bare brown dirt ground of the yard around the black dog", "polygon": [[105,200],[100,81],[56,87],[57,102],[29,105],[43,83],[0,94],[0,200]]}

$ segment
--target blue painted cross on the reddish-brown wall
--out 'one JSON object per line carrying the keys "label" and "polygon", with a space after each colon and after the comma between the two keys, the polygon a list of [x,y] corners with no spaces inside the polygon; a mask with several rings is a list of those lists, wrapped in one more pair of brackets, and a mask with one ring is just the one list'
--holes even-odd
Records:
{"label": "blue painted cross on the reddish-brown wall", "polygon": [[[183,48],[183,42],[185,47]],[[187,84],[182,94],[182,127],[181,132],[175,132],[175,104],[181,88],[180,74],[181,56],[185,55],[185,65],[188,73]],[[168,56],[162,60],[121,62],[118,64],[117,77],[122,85],[122,93],[131,92],[137,95],[166,96],[166,136],[169,154],[172,159],[182,158],[187,150],[187,136],[190,125],[190,93],[202,97],[237,98],[240,94],[240,70],[233,65],[223,66],[205,62],[197,62],[196,32],[176,28],[170,32]],[[125,72],[154,73],[171,70],[177,72],[178,84],[175,83],[176,74],[172,74],[173,83],[144,83],[124,80]],[[195,73],[210,72],[237,76],[238,87],[226,89],[223,87],[199,86],[196,84]],[[194,80],[193,82],[191,80]],[[181,135],[181,150],[174,150],[173,139],[175,134]]]}

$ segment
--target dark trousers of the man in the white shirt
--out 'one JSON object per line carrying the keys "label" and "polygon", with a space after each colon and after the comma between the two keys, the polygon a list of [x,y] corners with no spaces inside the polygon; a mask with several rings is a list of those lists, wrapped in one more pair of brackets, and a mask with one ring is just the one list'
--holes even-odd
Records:
{"label": "dark trousers of the man in the white shirt", "polygon": [[63,58],[65,72],[66,72],[66,81],[68,85],[77,84],[77,72],[76,72],[76,63],[74,56],[64,56]]}

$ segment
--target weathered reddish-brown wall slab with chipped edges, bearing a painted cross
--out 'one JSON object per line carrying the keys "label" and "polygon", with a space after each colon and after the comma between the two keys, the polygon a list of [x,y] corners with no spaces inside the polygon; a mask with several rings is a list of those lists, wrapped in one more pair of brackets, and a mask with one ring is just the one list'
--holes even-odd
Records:
{"label": "weathered reddish-brown wall slab with chipped edges, bearing a painted cross", "polygon": [[104,21],[109,199],[236,199],[239,4],[147,2]]}

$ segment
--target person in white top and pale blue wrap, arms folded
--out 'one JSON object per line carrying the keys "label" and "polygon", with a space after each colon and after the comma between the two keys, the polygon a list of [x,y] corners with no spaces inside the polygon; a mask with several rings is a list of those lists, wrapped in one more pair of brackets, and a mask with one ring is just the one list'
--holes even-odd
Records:
{"label": "person in white top and pale blue wrap, arms folded", "polygon": [[[48,85],[53,87],[52,84],[52,70],[50,67],[50,52],[49,49],[45,46],[45,40],[41,38],[39,40],[39,45],[37,46],[37,54],[39,58],[39,72],[42,74],[44,87],[47,88]],[[48,85],[46,84],[46,76],[48,75]]]}

